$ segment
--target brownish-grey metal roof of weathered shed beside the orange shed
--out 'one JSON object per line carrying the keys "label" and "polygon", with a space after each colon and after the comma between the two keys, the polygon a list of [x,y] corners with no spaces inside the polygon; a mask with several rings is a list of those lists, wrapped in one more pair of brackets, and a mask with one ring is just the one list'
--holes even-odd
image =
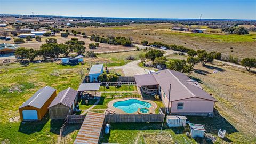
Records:
{"label": "brownish-grey metal roof of weathered shed beside the orange shed", "polygon": [[75,98],[77,95],[77,91],[68,87],[67,89],[61,91],[58,93],[58,95],[55,97],[55,99],[50,104],[50,107],[58,105],[59,103],[62,103],[63,105],[71,108]]}

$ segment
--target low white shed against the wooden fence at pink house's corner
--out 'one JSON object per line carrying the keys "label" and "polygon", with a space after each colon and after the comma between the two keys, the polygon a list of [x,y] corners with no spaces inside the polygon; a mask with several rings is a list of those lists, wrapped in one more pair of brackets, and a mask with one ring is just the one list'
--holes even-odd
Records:
{"label": "low white shed against the wooden fence at pink house's corner", "polygon": [[166,122],[169,127],[187,126],[186,120],[187,120],[186,116],[167,116],[166,117]]}

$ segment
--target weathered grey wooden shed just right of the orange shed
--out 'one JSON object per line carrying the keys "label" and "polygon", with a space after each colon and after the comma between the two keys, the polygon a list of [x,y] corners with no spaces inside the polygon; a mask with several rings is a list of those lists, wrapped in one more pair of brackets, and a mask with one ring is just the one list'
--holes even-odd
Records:
{"label": "weathered grey wooden shed just right of the orange shed", "polygon": [[48,107],[50,119],[65,119],[73,113],[77,100],[77,91],[70,87],[59,92]]}

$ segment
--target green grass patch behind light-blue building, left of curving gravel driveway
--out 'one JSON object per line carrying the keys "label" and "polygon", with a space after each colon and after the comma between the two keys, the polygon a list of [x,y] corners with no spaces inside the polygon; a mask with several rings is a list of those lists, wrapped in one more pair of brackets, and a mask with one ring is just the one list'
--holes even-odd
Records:
{"label": "green grass patch behind light-blue building, left of curving gravel driveway", "polygon": [[110,54],[100,54],[98,58],[105,58],[108,59],[109,62],[107,63],[108,67],[111,66],[122,66],[131,60],[126,60],[127,57],[133,56],[135,59],[139,59],[139,54],[145,53],[143,51],[130,51],[130,52],[121,52],[121,53],[110,53]]}

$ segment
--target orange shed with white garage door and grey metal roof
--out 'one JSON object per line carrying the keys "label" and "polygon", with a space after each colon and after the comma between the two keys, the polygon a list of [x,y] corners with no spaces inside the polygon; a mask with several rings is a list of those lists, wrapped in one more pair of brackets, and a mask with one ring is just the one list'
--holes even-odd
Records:
{"label": "orange shed with white garage door and grey metal roof", "polygon": [[56,97],[56,89],[45,86],[19,107],[21,121],[41,120]]}

